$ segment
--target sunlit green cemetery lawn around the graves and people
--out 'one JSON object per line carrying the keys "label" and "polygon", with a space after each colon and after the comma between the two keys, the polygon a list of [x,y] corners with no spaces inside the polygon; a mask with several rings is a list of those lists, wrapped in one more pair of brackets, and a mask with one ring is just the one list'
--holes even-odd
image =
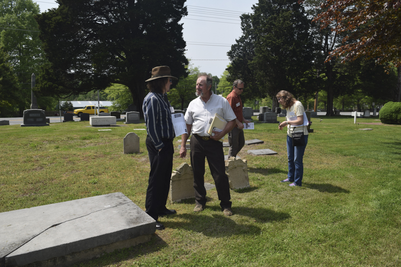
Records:
{"label": "sunlit green cemetery lawn around the graves and people", "polygon": [[[287,173],[286,132],[256,123],[245,137],[264,144],[239,154],[248,160],[251,188],[231,191],[233,216],[221,212],[216,190],[197,214],[194,199],[168,203],[178,214],[161,218],[166,229],[149,242],[79,266],[401,265],[401,127],[360,124],[373,129],[360,131],[350,116],[320,117],[312,118],[302,187],[279,182]],[[0,212],[112,192],[144,209],[146,132],[134,131],[140,153],[123,154],[125,135],[144,125],[118,125],[1,126]],[[264,148],[278,155],[246,152]],[[176,148],[173,168],[182,162],[190,161]],[[213,183],[209,170],[205,178]]]}

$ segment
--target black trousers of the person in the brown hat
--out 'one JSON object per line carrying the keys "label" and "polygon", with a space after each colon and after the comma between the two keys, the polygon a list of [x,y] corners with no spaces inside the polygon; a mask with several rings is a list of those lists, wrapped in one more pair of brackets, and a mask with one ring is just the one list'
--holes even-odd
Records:
{"label": "black trousers of the person in the brown hat", "polygon": [[150,173],[146,191],[145,212],[156,221],[159,218],[157,213],[166,209],[174,153],[172,139],[162,139],[161,141],[164,147],[158,151],[152,140],[149,137],[146,138]]}

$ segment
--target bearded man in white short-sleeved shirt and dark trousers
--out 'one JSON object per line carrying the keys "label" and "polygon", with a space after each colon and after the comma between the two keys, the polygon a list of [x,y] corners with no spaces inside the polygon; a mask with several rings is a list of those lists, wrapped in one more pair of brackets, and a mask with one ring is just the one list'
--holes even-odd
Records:
{"label": "bearded man in white short-sleeved shirt and dark trousers", "polygon": [[[226,174],[224,163],[223,143],[219,140],[230,132],[236,125],[236,116],[229,102],[224,97],[215,95],[212,88],[213,80],[206,74],[201,73],[196,80],[196,95],[198,98],[192,100],[185,112],[185,123],[188,133],[192,130],[190,140],[190,158],[193,170],[193,188],[195,190],[195,208],[194,212],[202,211],[206,205],[205,189],[205,158],[208,159],[209,168],[213,179],[215,180],[217,194],[220,200],[220,206],[224,215],[231,216],[232,202],[230,201],[229,178]],[[226,121],[226,127],[222,132],[213,131],[214,136],[206,133],[208,123],[215,114],[218,113]],[[186,156],[186,140],[188,134],[181,136],[180,157]]]}

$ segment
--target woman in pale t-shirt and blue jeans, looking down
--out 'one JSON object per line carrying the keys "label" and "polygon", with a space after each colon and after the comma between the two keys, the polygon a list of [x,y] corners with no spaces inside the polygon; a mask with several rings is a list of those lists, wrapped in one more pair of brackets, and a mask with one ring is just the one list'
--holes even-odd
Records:
{"label": "woman in pale t-shirt and blue jeans, looking down", "polygon": [[[280,123],[279,129],[283,130],[287,126],[287,156],[288,156],[288,175],[287,179],[281,182],[290,182],[290,186],[302,186],[304,173],[303,156],[308,143],[308,129],[304,124],[305,109],[302,103],[297,101],[294,96],[287,91],[280,91],[276,95],[280,105],[287,111],[286,121]],[[292,127],[300,125],[298,127]],[[293,146],[292,134],[304,132],[305,145]]]}

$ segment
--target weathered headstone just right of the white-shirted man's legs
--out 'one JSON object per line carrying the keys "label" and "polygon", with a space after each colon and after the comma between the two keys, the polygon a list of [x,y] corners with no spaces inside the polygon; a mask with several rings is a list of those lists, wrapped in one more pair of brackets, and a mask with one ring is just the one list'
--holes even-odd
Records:
{"label": "weathered headstone just right of the white-shirted man's legs", "polygon": [[229,177],[230,189],[250,187],[247,160],[229,158],[226,161],[226,173]]}

